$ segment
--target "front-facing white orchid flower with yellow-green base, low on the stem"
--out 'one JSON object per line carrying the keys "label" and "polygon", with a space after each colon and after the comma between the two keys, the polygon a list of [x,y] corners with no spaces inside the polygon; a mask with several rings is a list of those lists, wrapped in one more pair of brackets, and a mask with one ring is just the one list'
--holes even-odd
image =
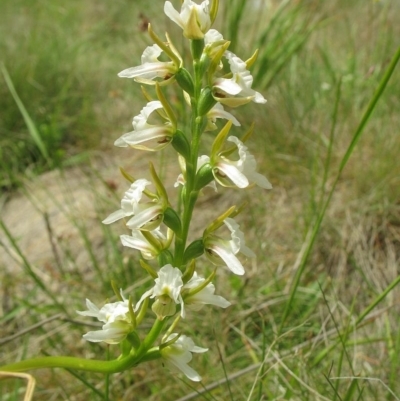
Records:
{"label": "front-facing white orchid flower with yellow-green base, low on the stem", "polygon": [[152,306],[153,312],[162,320],[165,316],[172,316],[176,312],[176,305],[181,305],[181,315],[184,317],[184,305],[181,296],[183,286],[182,272],[170,264],[163,266],[154,280],[155,285],[146,291],[135,306],[135,312],[140,308],[142,302],[150,297],[156,301]]}

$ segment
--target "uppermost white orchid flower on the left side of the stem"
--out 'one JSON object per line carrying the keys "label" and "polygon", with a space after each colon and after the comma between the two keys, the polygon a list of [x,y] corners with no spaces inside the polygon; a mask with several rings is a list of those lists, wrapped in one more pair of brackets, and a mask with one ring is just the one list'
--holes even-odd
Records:
{"label": "uppermost white orchid flower on the left side of the stem", "polygon": [[148,46],[142,54],[142,64],[121,71],[120,78],[135,78],[135,81],[154,85],[156,78],[161,78],[164,84],[171,81],[178,67],[172,61],[160,61],[158,58],[162,49],[157,44]]}

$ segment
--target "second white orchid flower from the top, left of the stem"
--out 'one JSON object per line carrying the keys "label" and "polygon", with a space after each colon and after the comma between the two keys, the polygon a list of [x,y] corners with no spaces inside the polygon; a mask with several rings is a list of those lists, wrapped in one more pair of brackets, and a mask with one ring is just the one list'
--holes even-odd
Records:
{"label": "second white orchid flower from the top, left of the stem", "polygon": [[150,115],[163,106],[159,100],[153,100],[135,116],[132,121],[133,131],[118,138],[114,145],[118,147],[132,147],[148,151],[156,151],[165,148],[172,140],[176,131],[175,127],[167,119],[164,124],[149,124]]}

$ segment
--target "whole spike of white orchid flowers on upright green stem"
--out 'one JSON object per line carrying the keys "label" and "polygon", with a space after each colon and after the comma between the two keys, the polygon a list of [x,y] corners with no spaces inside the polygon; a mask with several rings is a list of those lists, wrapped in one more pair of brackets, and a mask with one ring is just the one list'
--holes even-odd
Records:
{"label": "whole spike of white orchid flowers on upright green stem", "polygon": [[[166,1],[166,15],[183,29],[183,35],[191,41],[193,65],[185,68],[170,37],[166,35],[166,42],[161,40],[150,26],[150,36],[156,43],[146,48],[140,66],[118,74],[123,78],[134,78],[142,84],[154,85],[158,100],[146,96],[148,103],[133,118],[133,131],[118,138],[115,145],[157,151],[171,144],[179,154],[182,170],[175,187],[181,191],[183,211],[172,208],[154,168],[150,168],[152,181],[132,179],[121,200],[121,208],[111,213],[103,223],[111,224],[124,219],[131,235],[121,235],[121,242],[140,251],[141,264],[155,284],[144,292],[136,304],[131,298],[125,299],[121,291],[117,294],[118,302],[107,303],[99,309],[87,300],[88,310],[78,312],[104,323],[101,330],[87,333],[85,339],[108,344],[127,341],[132,346],[133,355],[137,353],[138,361],[145,359],[143,355],[150,346],[154,353],[157,340],[149,334],[146,341],[141,341],[136,332],[148,305],[151,304],[159,322],[176,316],[158,346],[159,357],[194,381],[199,381],[200,376],[188,366],[188,362],[193,352],[205,352],[207,349],[195,346],[190,338],[172,331],[179,319],[185,318],[190,310],[197,311],[207,304],[228,307],[229,301],[215,295],[212,280],[217,268],[226,266],[232,273],[243,275],[244,268],[237,255],[254,256],[233,219],[239,213],[234,206],[211,222],[201,238],[189,245],[186,243],[197,196],[205,186],[211,185],[216,189],[217,184],[236,188],[256,184],[265,189],[271,188],[269,181],[256,171],[255,158],[244,143],[229,135],[231,126],[240,126],[240,123],[224,110],[223,105],[238,107],[251,101],[262,104],[266,100],[252,89],[253,78],[248,68],[255,56],[247,62],[241,60],[228,51],[229,42],[218,31],[210,29],[217,10],[218,0],[213,0],[211,5],[209,0],[200,5],[184,0],[180,12]],[[165,53],[170,61],[160,61],[161,53]],[[227,74],[222,71],[223,58],[230,67]],[[188,134],[183,133],[185,128],[179,126],[176,113],[163,94],[165,86],[174,82],[184,91],[192,110],[191,132]],[[150,118],[153,121],[158,118],[159,122],[149,123]],[[199,155],[200,137],[206,131],[217,129],[217,119],[225,119],[227,123],[216,135],[210,154]],[[245,139],[249,136],[246,135]],[[232,157],[233,154],[237,157]],[[147,189],[151,184],[156,188],[155,193]],[[225,227],[230,236],[217,234],[221,227]],[[203,254],[215,266],[214,272],[207,278],[201,277],[195,270],[196,259]],[[157,264],[157,267],[152,267],[150,263]]]}

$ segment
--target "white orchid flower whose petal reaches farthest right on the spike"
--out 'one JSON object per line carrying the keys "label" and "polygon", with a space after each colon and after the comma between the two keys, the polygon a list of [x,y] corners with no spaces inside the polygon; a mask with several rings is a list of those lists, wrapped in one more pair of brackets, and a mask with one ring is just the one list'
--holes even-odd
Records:
{"label": "white orchid flower whose petal reaches farthest right on the spike", "polygon": [[257,162],[247,151],[247,147],[235,136],[228,137],[233,142],[239,154],[239,160],[230,160],[223,154],[217,155],[211,165],[215,180],[224,187],[236,186],[246,188],[252,183],[264,189],[271,189],[271,183],[263,175],[257,173]]}

